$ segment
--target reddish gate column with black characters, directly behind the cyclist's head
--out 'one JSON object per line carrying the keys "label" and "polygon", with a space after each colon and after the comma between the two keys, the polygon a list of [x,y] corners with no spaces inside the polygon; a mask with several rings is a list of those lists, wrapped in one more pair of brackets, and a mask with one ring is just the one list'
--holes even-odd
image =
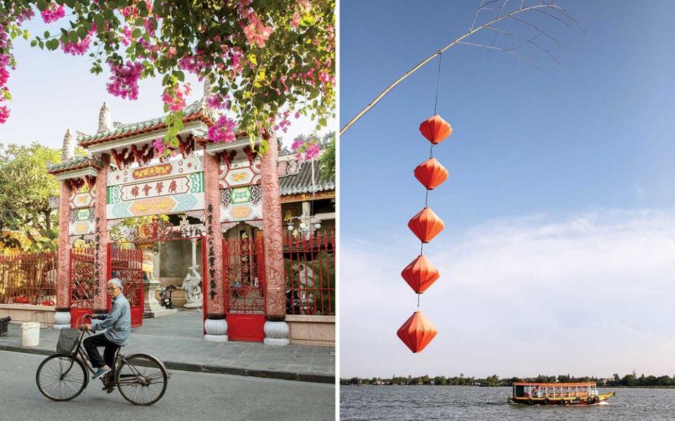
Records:
{"label": "reddish gate column with black characters, directly behind the cyclist's head", "polygon": [[110,155],[101,155],[103,168],[98,171],[96,184],[94,185],[94,313],[107,312],[108,305],[108,219],[105,215],[105,206],[108,204],[108,169],[110,168]]}

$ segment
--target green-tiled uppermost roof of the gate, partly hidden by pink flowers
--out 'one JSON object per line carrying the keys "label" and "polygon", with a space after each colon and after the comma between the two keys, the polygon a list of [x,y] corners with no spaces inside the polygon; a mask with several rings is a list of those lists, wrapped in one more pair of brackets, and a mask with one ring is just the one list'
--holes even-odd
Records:
{"label": "green-tiled uppermost roof of the gate, partly hidden by pink flowers", "polygon": [[[216,116],[210,112],[207,107],[203,106],[204,98],[193,102],[183,110],[183,121],[201,120],[207,126],[212,126]],[[130,136],[140,135],[149,131],[164,128],[166,115],[157,117],[155,119],[139,121],[137,123],[116,124],[113,130],[96,133],[95,135],[84,135],[77,140],[81,147],[88,147],[98,143],[108,142],[109,140],[116,140],[120,138],[128,138]]]}

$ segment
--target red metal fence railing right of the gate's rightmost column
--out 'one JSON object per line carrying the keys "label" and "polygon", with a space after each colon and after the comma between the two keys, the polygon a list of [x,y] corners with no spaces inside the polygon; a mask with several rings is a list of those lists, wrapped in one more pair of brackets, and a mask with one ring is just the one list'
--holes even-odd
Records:
{"label": "red metal fence railing right of the gate's rightmost column", "polygon": [[286,314],[335,316],[335,232],[283,241]]}

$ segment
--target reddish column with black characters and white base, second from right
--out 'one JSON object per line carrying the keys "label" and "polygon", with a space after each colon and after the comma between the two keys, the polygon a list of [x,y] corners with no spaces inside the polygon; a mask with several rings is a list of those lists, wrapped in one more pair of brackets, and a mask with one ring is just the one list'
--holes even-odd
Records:
{"label": "reddish column with black characters and white base, second from right", "polygon": [[224,342],[227,340],[227,322],[223,284],[223,232],[220,225],[220,187],[218,173],[219,156],[204,153],[204,196],[206,206],[206,267],[204,269],[204,294],[206,320],[205,340]]}

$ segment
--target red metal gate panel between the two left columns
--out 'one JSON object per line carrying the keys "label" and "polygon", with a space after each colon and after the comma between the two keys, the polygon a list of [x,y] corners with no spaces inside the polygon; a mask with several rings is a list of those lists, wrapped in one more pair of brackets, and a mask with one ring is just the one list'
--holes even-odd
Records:
{"label": "red metal gate panel between the two left columns", "polygon": [[[96,269],[94,250],[73,248],[70,250],[70,326],[75,328],[77,319],[91,314],[96,294]],[[105,288],[105,287],[103,287]]]}

